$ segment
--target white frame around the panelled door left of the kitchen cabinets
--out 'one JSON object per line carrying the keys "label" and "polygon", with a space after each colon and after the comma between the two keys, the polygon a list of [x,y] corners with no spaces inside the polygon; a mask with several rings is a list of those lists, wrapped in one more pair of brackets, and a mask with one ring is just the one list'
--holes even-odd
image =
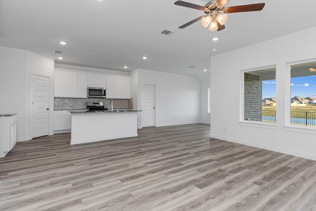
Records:
{"label": "white frame around the panelled door left of the kitchen cabinets", "polygon": [[54,76],[53,75],[48,75],[44,73],[39,73],[39,72],[34,72],[30,71],[29,73],[29,90],[30,90],[30,99],[29,99],[29,134],[30,138],[32,139],[33,137],[33,131],[32,127],[34,125],[34,115],[33,114],[33,107],[32,107],[32,102],[33,102],[33,92],[32,92],[32,80],[33,80],[33,75],[37,76],[42,76],[42,77],[47,77],[49,78],[49,122],[48,122],[48,135],[53,135],[54,134]]}

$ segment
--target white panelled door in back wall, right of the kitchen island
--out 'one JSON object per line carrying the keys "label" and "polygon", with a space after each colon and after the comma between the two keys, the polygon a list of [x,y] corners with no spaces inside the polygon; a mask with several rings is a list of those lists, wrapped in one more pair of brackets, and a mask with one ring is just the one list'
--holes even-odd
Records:
{"label": "white panelled door in back wall, right of the kitchen island", "polygon": [[143,124],[142,127],[155,126],[156,86],[143,84]]}

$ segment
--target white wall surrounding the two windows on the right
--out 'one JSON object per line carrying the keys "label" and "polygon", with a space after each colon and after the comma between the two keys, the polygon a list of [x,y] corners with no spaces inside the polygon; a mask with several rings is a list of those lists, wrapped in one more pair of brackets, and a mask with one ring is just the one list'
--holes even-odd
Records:
{"label": "white wall surrounding the two windows on the right", "polygon": [[[316,58],[316,28],[211,57],[210,136],[316,160],[316,128],[286,127],[288,62]],[[238,123],[241,71],[276,65],[276,124]]]}

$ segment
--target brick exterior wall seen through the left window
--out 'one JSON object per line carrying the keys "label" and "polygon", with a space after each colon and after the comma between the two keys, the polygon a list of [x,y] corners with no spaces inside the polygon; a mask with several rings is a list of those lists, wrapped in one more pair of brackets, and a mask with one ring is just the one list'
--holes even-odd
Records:
{"label": "brick exterior wall seen through the left window", "polygon": [[244,120],[262,121],[262,82],[259,76],[244,74]]}

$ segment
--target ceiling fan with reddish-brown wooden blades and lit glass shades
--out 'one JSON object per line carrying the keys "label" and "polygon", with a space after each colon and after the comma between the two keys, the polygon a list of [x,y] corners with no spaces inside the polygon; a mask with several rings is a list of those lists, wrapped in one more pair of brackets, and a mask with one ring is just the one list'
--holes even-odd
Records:
{"label": "ceiling fan with reddish-brown wooden blades and lit glass shades", "polygon": [[[265,3],[255,3],[240,6],[230,6],[225,7],[225,4],[229,0],[211,0],[205,4],[205,6],[200,6],[197,4],[189,3],[182,0],[177,0],[174,2],[175,5],[185,6],[193,9],[198,9],[204,11],[206,15],[202,15],[182,26],[179,29],[183,29],[191,24],[201,20],[203,27],[208,27],[210,31],[221,31],[225,29],[225,23],[227,21],[228,15],[226,13],[233,12],[250,12],[250,11],[260,11],[265,6]],[[225,13],[225,14],[220,14]]]}

